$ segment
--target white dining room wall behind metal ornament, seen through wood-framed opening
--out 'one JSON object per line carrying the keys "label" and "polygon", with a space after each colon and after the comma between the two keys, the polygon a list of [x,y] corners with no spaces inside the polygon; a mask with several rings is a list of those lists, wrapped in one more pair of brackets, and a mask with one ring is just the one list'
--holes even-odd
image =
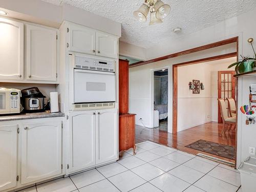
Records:
{"label": "white dining room wall behind metal ornament, seen through wood-framed opening", "polygon": [[[232,57],[178,67],[178,132],[218,121],[218,71],[233,70],[227,67],[236,60]],[[188,82],[193,79],[204,84],[200,94],[188,89]]]}

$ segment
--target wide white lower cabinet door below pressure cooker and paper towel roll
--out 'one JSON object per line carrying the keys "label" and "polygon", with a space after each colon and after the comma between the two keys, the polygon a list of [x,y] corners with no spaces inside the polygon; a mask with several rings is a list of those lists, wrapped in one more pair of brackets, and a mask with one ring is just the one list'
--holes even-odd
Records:
{"label": "wide white lower cabinet door below pressure cooker and paper towel roll", "polygon": [[59,120],[23,123],[22,184],[61,174],[61,138]]}

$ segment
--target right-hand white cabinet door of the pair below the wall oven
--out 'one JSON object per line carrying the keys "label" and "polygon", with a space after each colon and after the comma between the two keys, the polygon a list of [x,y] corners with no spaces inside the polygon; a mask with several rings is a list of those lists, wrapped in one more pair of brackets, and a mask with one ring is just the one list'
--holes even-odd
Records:
{"label": "right-hand white cabinet door of the pair below the wall oven", "polygon": [[115,109],[96,112],[96,164],[118,159],[117,112]]}

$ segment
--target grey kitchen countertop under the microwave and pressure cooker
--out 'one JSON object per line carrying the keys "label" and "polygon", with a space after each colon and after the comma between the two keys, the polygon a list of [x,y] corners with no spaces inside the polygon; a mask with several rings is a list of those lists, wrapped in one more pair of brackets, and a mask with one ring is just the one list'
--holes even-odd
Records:
{"label": "grey kitchen countertop under the microwave and pressure cooker", "polygon": [[39,118],[49,118],[49,117],[64,117],[65,114],[58,113],[50,113],[48,111],[38,112],[38,113],[22,113],[17,115],[1,115],[0,121],[10,121],[10,120],[22,120],[22,119],[39,119]]}

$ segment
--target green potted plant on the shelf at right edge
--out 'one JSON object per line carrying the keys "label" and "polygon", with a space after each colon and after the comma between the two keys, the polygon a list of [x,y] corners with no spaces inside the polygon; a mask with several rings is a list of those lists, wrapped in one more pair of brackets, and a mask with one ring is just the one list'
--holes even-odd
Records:
{"label": "green potted plant on the shelf at right edge", "polygon": [[228,69],[233,66],[236,66],[236,68],[234,68],[234,70],[236,70],[237,74],[256,70],[256,54],[255,54],[254,48],[252,46],[252,41],[253,41],[253,38],[248,39],[248,42],[251,44],[252,50],[254,52],[254,58],[251,58],[249,56],[240,55],[242,57],[242,59],[240,59],[237,62],[232,63],[230,66],[228,66]]}

